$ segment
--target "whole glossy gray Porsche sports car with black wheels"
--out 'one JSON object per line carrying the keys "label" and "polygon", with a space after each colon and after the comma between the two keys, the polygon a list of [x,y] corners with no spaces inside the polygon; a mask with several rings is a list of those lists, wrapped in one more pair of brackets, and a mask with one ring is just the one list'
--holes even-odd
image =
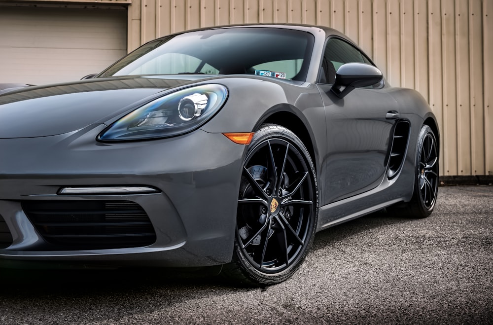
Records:
{"label": "whole glossy gray Porsche sports car with black wheels", "polygon": [[0,265],[222,265],[289,278],[315,232],[427,217],[437,121],[325,27],[161,37],[83,80],[0,95]]}

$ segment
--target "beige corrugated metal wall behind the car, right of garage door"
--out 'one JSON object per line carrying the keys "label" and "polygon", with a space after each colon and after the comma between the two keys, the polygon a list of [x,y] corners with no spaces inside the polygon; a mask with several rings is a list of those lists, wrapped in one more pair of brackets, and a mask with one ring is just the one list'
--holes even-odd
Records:
{"label": "beige corrugated metal wall behind the car, right of garage door", "polygon": [[440,123],[441,175],[493,175],[493,0],[133,0],[129,50],[187,29],[241,23],[333,27]]}

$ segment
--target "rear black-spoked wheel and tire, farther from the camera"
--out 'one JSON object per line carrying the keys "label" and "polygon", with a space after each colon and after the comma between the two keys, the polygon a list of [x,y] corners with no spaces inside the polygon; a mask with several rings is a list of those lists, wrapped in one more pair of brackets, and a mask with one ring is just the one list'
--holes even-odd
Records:
{"label": "rear black-spoked wheel and tire, farther from the camera", "polygon": [[423,125],[416,146],[413,198],[406,204],[387,208],[403,217],[425,218],[435,208],[438,194],[438,144],[428,125]]}

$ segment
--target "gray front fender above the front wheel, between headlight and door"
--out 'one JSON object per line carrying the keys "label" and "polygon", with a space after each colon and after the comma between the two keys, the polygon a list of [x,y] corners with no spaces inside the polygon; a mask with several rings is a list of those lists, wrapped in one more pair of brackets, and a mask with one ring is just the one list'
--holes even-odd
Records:
{"label": "gray front fender above the front wheel, between headlight and door", "polygon": [[216,82],[228,88],[229,97],[216,116],[201,127],[203,131],[255,132],[264,122],[280,124],[305,143],[313,154],[317,177],[323,177],[319,166],[327,150],[325,108],[313,83],[255,76]]}

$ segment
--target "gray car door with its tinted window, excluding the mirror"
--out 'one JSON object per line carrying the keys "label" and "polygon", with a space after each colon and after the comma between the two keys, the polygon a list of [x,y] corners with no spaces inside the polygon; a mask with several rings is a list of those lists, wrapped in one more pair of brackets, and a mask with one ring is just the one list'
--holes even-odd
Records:
{"label": "gray car door with its tinted window, excluding the mirror", "polygon": [[387,152],[395,120],[387,112],[396,107],[383,81],[356,88],[344,98],[330,90],[335,72],[345,63],[371,62],[340,38],[327,40],[317,88],[325,107],[327,154],[323,161],[323,204],[336,202],[377,187],[387,168]]}

